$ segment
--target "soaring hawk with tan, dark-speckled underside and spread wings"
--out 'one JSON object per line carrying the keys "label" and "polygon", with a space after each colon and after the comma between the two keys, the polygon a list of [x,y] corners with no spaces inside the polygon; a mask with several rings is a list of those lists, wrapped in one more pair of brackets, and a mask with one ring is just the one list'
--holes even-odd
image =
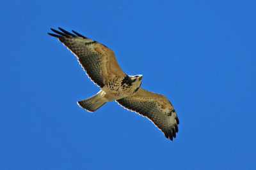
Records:
{"label": "soaring hawk with tan, dark-speckled underside and spread wings", "polygon": [[48,34],[58,38],[76,55],[86,74],[100,87],[94,96],[77,102],[81,108],[93,112],[108,101],[116,101],[124,108],[150,119],[167,139],[176,138],[179,119],[165,96],[142,89],[142,75],[125,74],[116,62],[114,52],[107,46],[76,31],[72,31],[73,34],[59,29],[51,29],[56,34]]}

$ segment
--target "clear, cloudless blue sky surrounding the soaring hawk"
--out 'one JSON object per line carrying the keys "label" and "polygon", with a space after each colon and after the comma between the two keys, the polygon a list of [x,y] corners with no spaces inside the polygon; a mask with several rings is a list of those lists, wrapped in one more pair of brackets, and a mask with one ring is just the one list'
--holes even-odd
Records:
{"label": "clear, cloudless blue sky surrounding the soaring hawk", "polygon": [[[5,1],[0,169],[255,169],[256,1]],[[180,120],[76,104],[99,88],[50,28],[111,48]]]}

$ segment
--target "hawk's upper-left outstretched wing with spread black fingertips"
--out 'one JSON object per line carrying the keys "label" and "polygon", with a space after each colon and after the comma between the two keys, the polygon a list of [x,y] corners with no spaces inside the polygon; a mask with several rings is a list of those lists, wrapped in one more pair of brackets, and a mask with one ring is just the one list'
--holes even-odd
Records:
{"label": "hawk's upper-left outstretched wing with spread black fingertips", "polygon": [[107,46],[86,38],[76,31],[72,31],[76,34],[74,35],[60,27],[59,29],[62,32],[51,29],[56,34],[48,34],[58,38],[63,45],[67,46],[77,56],[86,74],[99,87],[104,87],[109,80],[116,77],[125,76],[116,62],[115,53]]}

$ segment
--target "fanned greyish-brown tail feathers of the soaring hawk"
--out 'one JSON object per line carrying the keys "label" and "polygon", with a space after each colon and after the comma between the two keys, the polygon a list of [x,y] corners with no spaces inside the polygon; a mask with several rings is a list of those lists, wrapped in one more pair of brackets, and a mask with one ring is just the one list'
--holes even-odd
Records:
{"label": "fanned greyish-brown tail feathers of the soaring hawk", "polygon": [[[99,94],[99,93],[98,93]],[[77,104],[84,108],[87,111],[93,112],[98,110],[103,104],[105,104],[105,101],[98,101],[96,103],[92,103],[92,101],[97,97],[98,94],[95,94],[94,96],[84,99],[83,101],[77,101]]]}

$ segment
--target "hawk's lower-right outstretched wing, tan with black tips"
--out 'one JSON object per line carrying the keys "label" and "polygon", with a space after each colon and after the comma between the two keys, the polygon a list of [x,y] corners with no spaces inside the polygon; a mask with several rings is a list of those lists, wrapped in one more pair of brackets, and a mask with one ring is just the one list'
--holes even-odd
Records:
{"label": "hawk's lower-right outstretched wing, tan with black tips", "polygon": [[149,118],[163,131],[166,138],[170,140],[176,138],[176,132],[179,131],[179,119],[172,104],[165,96],[140,88],[136,93],[119,99],[117,102],[124,108]]}

